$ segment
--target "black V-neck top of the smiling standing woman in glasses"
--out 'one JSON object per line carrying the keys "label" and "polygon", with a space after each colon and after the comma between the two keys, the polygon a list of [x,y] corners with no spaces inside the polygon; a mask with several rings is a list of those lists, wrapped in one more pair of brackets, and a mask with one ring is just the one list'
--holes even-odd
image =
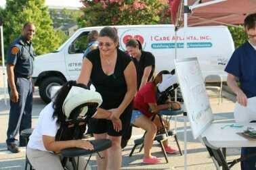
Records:
{"label": "black V-neck top of the smiling standing woman in glasses", "polygon": [[87,59],[89,59],[93,65],[91,70],[91,83],[95,86],[96,91],[102,95],[103,103],[100,107],[103,109],[119,107],[127,92],[124,71],[130,63],[131,58],[118,49],[114,73],[109,76],[103,72],[99,49],[88,53]]}

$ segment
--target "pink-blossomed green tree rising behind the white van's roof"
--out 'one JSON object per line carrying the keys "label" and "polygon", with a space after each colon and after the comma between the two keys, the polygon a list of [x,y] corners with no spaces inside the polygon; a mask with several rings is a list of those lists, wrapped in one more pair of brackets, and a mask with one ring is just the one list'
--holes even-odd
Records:
{"label": "pink-blossomed green tree rising behind the white van's roof", "polygon": [[158,0],[83,0],[83,4],[81,27],[169,22],[168,4]]}

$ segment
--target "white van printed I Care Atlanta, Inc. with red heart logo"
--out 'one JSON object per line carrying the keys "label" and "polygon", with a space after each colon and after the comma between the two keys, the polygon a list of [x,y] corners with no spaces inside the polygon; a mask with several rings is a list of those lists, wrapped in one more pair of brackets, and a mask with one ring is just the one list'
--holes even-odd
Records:
{"label": "white van printed I Care Atlanta, Inc. with red heart logo", "polygon": [[[174,68],[175,40],[177,58],[198,57],[203,76],[223,75],[223,69],[234,51],[234,42],[226,26],[204,26],[180,28],[175,36],[173,25],[114,26],[118,30],[120,49],[125,51],[125,42],[138,38],[144,51],[153,53],[156,72]],[[68,80],[77,80],[87,47],[87,35],[91,30],[103,28],[88,27],[77,30],[64,44],[52,53],[35,59],[33,78],[39,86],[43,101],[49,102],[51,86]],[[223,77],[226,80],[226,76]]]}

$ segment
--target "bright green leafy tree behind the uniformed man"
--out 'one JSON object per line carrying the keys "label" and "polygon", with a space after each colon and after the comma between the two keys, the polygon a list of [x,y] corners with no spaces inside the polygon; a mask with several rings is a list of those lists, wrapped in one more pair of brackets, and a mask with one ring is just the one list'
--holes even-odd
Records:
{"label": "bright green leafy tree behind the uniformed man", "polygon": [[60,46],[62,37],[57,33],[49,16],[44,0],[7,0],[5,9],[1,9],[5,53],[7,47],[17,38],[26,22],[33,22],[36,34],[33,47],[37,55],[54,51]]}

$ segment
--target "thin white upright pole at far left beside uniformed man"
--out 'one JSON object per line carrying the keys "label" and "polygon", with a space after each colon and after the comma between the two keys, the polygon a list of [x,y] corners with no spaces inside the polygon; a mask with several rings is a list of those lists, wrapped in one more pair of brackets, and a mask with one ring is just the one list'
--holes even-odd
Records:
{"label": "thin white upright pole at far left beside uniformed man", "polygon": [[5,105],[7,105],[7,91],[6,91],[6,74],[5,74],[5,53],[3,51],[3,24],[0,25],[0,39],[1,39],[1,55],[2,55],[2,69],[3,69],[3,93],[5,98]]}

